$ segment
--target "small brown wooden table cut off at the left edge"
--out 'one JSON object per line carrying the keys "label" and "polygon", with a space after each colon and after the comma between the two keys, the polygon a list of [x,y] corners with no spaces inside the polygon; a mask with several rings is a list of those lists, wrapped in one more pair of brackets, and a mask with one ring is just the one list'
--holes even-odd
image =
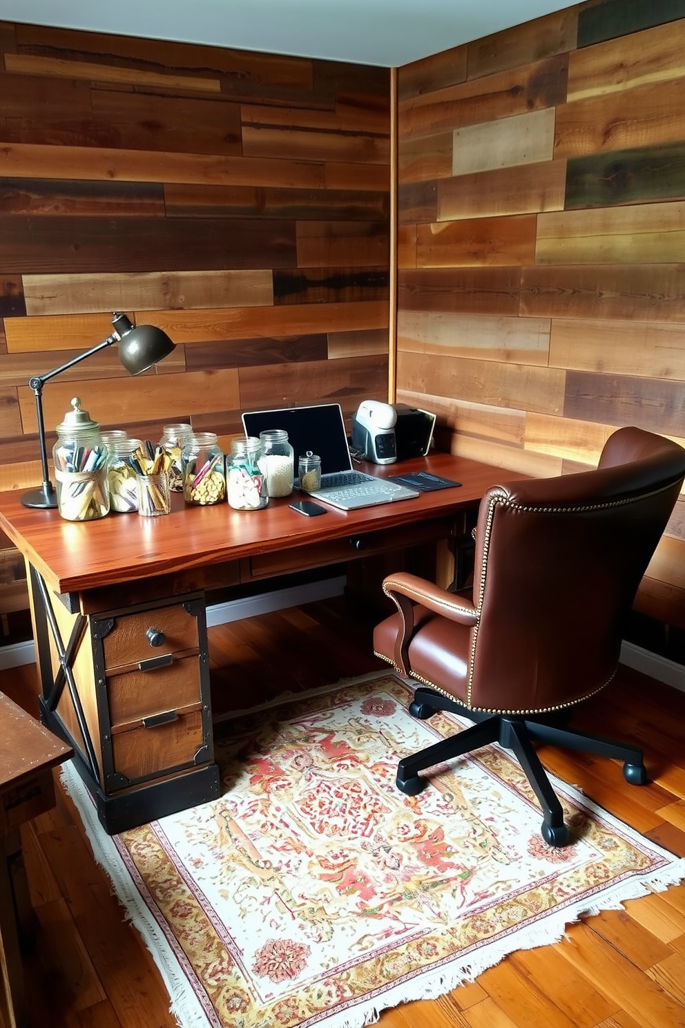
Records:
{"label": "small brown wooden table cut off at the left edge", "polygon": [[72,756],[66,745],[0,693],[0,1009],[7,1028],[29,1024],[20,939],[29,889],[20,825],[54,806],[51,769]]}

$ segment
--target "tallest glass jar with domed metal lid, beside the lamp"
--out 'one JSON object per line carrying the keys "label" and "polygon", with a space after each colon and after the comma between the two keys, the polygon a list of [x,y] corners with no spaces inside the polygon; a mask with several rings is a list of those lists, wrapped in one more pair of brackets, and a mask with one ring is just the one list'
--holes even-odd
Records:
{"label": "tallest glass jar with domed metal lid, beside the lamp", "polygon": [[52,447],[58,508],[67,521],[90,521],[110,511],[107,446],[98,423],[81,410],[79,398],[74,397],[71,405],[56,427]]}

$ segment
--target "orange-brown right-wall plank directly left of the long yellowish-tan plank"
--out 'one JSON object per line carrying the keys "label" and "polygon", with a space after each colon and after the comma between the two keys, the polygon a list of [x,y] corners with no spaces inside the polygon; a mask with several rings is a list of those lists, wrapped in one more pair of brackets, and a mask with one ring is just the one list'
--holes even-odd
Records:
{"label": "orange-brown right-wall plank directly left of the long yellowish-tan plank", "polygon": [[532,214],[418,225],[416,262],[419,267],[532,264],[535,227]]}

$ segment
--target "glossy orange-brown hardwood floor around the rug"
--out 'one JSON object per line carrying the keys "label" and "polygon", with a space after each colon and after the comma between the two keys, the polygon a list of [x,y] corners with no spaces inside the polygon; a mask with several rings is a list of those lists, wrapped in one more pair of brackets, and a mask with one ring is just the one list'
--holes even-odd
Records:
{"label": "glossy orange-brown hardwood floor around the rug", "polygon": [[[210,637],[220,715],[386,666],[372,654],[370,624],[342,600],[212,628]],[[0,689],[34,713],[35,674],[33,665],[0,672]],[[618,765],[549,747],[540,750],[545,765],[685,856],[685,694],[622,668],[574,724],[644,746],[650,784],[630,786]],[[24,833],[39,920],[27,958],[35,1028],[175,1028],[148,951],[122,920],[71,802],[58,795],[58,807]],[[589,917],[563,942],[515,953],[440,999],[386,1011],[380,1025],[683,1028],[685,884]]]}

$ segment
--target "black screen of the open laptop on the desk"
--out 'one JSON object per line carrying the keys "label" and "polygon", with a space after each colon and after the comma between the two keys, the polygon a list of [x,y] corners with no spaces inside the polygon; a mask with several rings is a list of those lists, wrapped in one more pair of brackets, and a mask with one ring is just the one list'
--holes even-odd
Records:
{"label": "black screen of the open laptop on the desk", "polygon": [[254,410],[242,415],[248,436],[259,436],[268,429],[283,429],[295,450],[295,475],[301,453],[311,450],[321,458],[321,473],[349,471],[352,462],[342,410],[338,403],[314,407],[290,407],[282,410]]}

